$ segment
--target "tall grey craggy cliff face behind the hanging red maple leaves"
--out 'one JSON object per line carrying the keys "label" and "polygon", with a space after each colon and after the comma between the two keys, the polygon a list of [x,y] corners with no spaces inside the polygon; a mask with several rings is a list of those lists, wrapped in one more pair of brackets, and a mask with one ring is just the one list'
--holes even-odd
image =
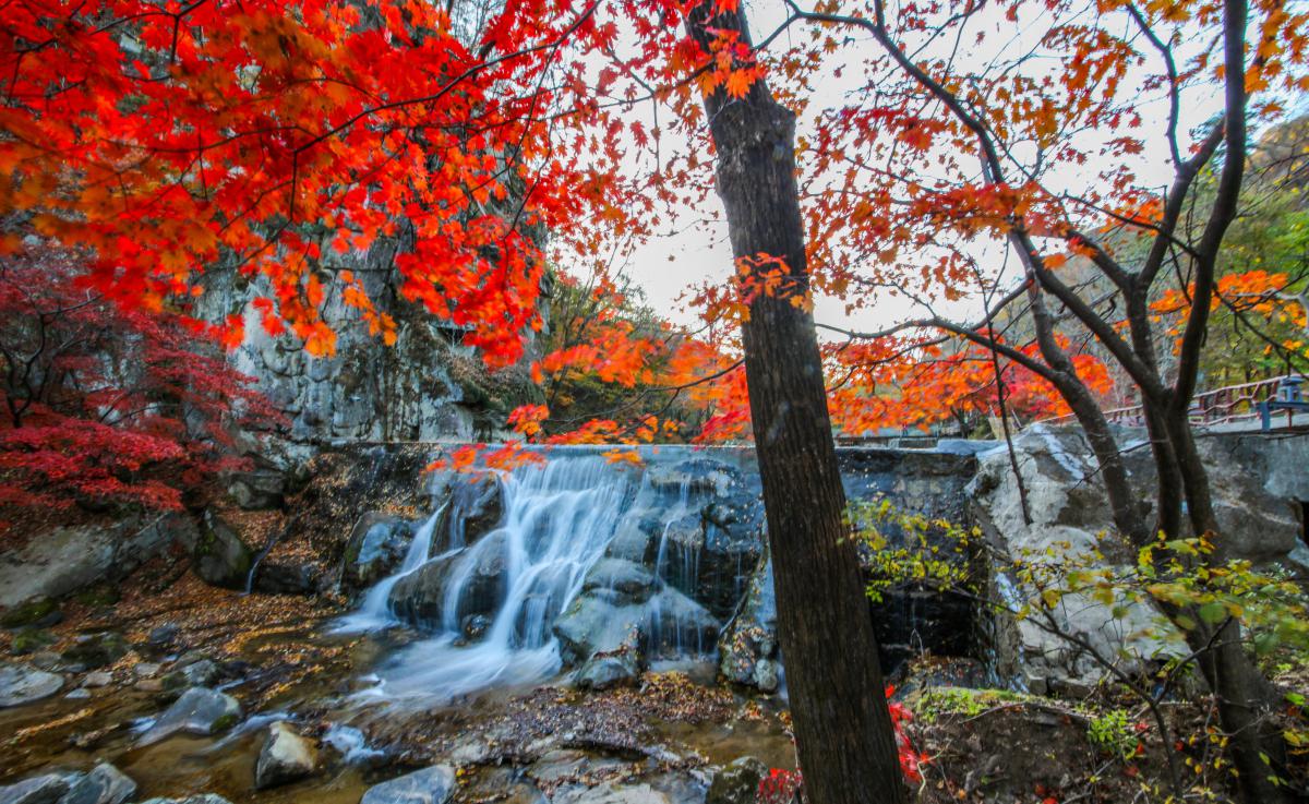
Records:
{"label": "tall grey craggy cliff face behind the hanging red maple leaves", "polygon": [[[267,295],[262,280],[223,271],[198,300],[198,316],[221,321],[242,316],[245,342],[232,357],[234,367],[258,380],[258,388],[289,420],[284,454],[266,454],[287,466],[317,449],[360,441],[476,440],[517,403],[537,393],[526,371],[488,375],[476,351],[463,346],[463,330],[442,323],[421,305],[401,297],[394,267],[406,236],[380,241],[368,253],[335,257],[355,271],[378,313],[394,318],[395,343],[387,347],[370,335],[359,312],[342,295],[329,291],[321,308],[336,333],[336,351],[310,357],[291,335],[271,337],[251,304]],[[323,244],[327,247],[327,244]],[[258,482],[242,479],[242,496],[270,495]]]}

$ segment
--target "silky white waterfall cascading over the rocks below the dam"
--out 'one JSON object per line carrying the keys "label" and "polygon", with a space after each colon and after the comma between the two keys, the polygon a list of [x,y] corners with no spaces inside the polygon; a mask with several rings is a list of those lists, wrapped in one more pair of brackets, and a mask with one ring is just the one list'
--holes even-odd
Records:
{"label": "silky white waterfall cascading over the rocks below the dam", "polygon": [[[462,551],[445,581],[440,632],[393,656],[378,670],[380,684],[363,695],[431,703],[490,686],[530,684],[559,672],[551,625],[579,594],[586,570],[603,555],[631,505],[632,477],[601,457],[586,456],[520,467],[500,482],[504,515],[496,528],[471,547],[437,557],[448,559]],[[459,519],[457,513],[452,519]],[[424,525],[424,539],[431,541],[435,519]],[[479,642],[457,646],[459,601],[476,580],[479,564],[488,560],[503,562],[501,602]],[[370,589],[350,619],[390,618],[386,597],[391,588],[421,564],[411,567],[406,558],[401,572]]]}

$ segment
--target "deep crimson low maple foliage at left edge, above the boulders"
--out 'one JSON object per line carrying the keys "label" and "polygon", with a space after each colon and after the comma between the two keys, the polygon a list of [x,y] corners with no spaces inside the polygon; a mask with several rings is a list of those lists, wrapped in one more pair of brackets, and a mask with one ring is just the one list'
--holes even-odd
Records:
{"label": "deep crimson low maple foliage at left edge, above the boulders", "polygon": [[280,423],[203,325],[124,310],[58,255],[0,265],[0,507],[175,509],[245,465],[230,427]]}

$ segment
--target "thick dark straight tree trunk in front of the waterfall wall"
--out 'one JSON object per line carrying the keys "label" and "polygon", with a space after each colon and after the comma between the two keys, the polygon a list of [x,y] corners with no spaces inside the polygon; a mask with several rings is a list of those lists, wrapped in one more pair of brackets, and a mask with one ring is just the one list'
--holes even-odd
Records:
{"label": "thick dark straight tree trunk in front of the waterfall wall", "polygon": [[[706,50],[711,14],[707,4],[687,21]],[[746,38],[737,13],[719,14],[711,25]],[[781,293],[761,293],[750,302],[742,337],[805,790],[812,804],[903,803],[877,640],[846,521],[818,339],[812,314],[792,304],[808,289],[795,115],[762,81],[742,100],[716,92],[704,107],[734,255],[781,258],[792,280]]]}

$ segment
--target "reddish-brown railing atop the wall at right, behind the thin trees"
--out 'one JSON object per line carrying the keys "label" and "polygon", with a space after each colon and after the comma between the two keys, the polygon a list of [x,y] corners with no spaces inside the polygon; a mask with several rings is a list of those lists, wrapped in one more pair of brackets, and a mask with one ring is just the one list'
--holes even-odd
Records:
{"label": "reddish-brown railing atop the wall at right, behind the thin trees", "polygon": [[[1284,375],[1270,377],[1258,382],[1245,382],[1242,385],[1228,385],[1213,390],[1195,394],[1189,411],[1192,426],[1217,427],[1241,426],[1258,423],[1259,429],[1268,431],[1274,426],[1278,414],[1285,412],[1285,427],[1309,427],[1309,422],[1296,422],[1296,414],[1309,415],[1309,399],[1305,397],[1305,385],[1309,380],[1304,375]],[[1145,416],[1140,405],[1115,407],[1105,411],[1105,416],[1114,424],[1127,427],[1145,427]],[[1041,419],[1043,424],[1072,424],[1076,419],[1069,414],[1050,419]]]}

